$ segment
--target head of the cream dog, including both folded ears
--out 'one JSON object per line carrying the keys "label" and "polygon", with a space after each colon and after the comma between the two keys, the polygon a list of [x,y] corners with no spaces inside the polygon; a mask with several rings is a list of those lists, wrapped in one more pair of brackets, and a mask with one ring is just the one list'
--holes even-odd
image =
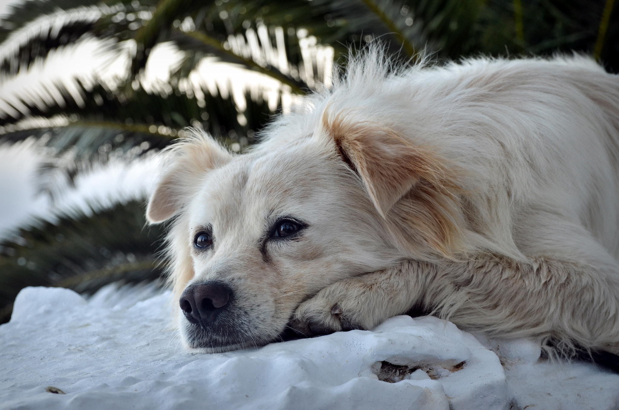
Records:
{"label": "head of the cream dog, including both folded ears", "polygon": [[173,219],[186,346],[266,344],[318,290],[457,248],[461,216],[443,162],[391,129],[344,117],[324,115],[313,134],[249,154],[207,136],[168,150],[147,217]]}

